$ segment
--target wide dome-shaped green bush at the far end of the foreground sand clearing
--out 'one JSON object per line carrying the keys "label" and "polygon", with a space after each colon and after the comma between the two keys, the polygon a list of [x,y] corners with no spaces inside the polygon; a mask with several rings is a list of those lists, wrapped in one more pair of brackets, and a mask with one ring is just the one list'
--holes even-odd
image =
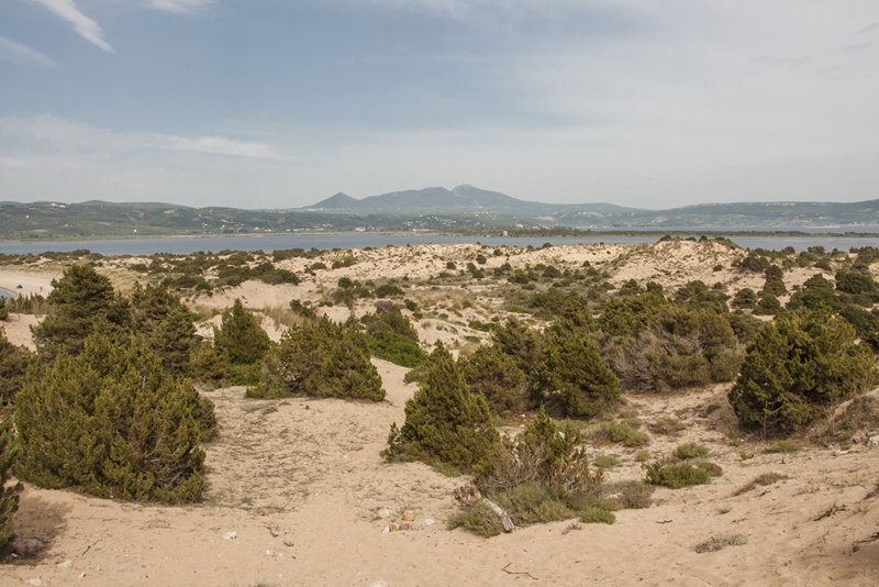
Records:
{"label": "wide dome-shaped green bush at the far end of the foreground sand clearing", "polygon": [[326,319],[285,332],[263,359],[263,373],[260,384],[247,389],[248,397],[385,399],[381,378],[369,362],[366,336]]}

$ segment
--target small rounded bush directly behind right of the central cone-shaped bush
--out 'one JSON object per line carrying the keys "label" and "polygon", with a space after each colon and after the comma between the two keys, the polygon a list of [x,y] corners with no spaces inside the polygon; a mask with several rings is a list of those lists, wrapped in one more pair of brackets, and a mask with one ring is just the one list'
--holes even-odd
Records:
{"label": "small rounded bush directly behind right of the central cone-shaped bush", "polygon": [[492,413],[507,417],[528,408],[528,381],[515,362],[493,346],[480,346],[458,362],[470,391],[486,398]]}

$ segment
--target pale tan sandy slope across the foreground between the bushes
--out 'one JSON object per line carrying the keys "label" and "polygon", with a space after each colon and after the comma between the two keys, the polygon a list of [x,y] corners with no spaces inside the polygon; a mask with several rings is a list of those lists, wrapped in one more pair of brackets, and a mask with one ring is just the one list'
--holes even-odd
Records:
{"label": "pale tan sandy slope across the foreground between the bushes", "polygon": [[[483,540],[448,531],[452,490],[463,479],[421,464],[388,465],[379,452],[390,422],[401,422],[412,386],[404,369],[376,361],[388,400],[242,398],[242,388],[209,392],[220,429],[208,445],[204,502],[155,507],[29,487],[15,522],[19,535],[47,543],[45,555],[0,567],[0,584],[40,578],[48,585],[875,585],[879,542],[879,451],[824,450],[782,457],[758,445],[728,446],[717,429],[728,414],[700,418],[723,389],[638,399],[642,418],[680,413],[691,422],[677,439],[656,436],[650,450],[700,440],[725,475],[711,485],[660,489],[658,505],[617,512],[614,525],[570,522],[520,529]],[[742,461],[738,452],[757,452]],[[592,454],[601,451],[596,448]],[[605,451],[612,453],[612,450]],[[610,478],[639,476],[633,451]],[[739,497],[761,473],[790,477]],[[831,506],[847,509],[814,521]],[[374,520],[388,506],[415,513],[413,530],[383,533]],[[728,508],[730,511],[721,513]],[[425,519],[435,520],[424,525]],[[399,521],[399,517],[394,518]],[[236,532],[224,540],[226,532]],[[749,542],[716,553],[693,547],[715,533]],[[69,568],[56,565],[73,561]],[[507,571],[504,571],[504,568]],[[528,575],[513,575],[528,573]],[[85,574],[84,576],[80,575]],[[534,577],[534,578],[532,578]]]}

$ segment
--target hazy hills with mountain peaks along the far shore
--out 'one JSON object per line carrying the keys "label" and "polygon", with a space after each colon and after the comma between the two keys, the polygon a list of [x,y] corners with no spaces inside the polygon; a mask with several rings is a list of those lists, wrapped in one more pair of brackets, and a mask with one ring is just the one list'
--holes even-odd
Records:
{"label": "hazy hills with mountain peaks along the far shore", "polygon": [[[171,203],[0,202],[0,240],[77,240],[300,231],[477,232],[570,229],[723,229],[879,226],[879,200],[705,203],[644,210],[611,203],[518,200],[474,186],[394,191],[357,200],[336,193],[288,210],[190,208]],[[2,253],[2,247],[0,247]]]}

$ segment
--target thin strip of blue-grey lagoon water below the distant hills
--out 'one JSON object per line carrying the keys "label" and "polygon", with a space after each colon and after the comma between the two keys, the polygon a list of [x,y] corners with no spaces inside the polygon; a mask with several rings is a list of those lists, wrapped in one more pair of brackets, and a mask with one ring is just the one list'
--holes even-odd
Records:
{"label": "thin strip of blue-grey lagoon water below the distant hills", "polygon": [[[671,230],[671,229],[665,229]],[[687,230],[687,229],[674,229]],[[699,230],[694,232],[698,234]],[[711,229],[715,231],[716,229]],[[742,229],[735,229],[742,230]],[[766,229],[764,229],[766,230]],[[801,230],[808,232],[808,230]],[[813,229],[827,232],[827,229]],[[859,230],[863,230],[859,228]],[[163,239],[118,239],[118,240],[92,240],[92,241],[33,241],[33,242],[0,242],[0,253],[8,255],[22,255],[26,253],[37,254],[46,251],[69,252],[77,248],[88,248],[92,253],[102,255],[152,255],[154,253],[189,254],[196,251],[212,251],[214,253],[223,250],[237,251],[265,251],[271,252],[279,248],[374,248],[388,245],[404,246],[407,244],[461,244],[480,242],[490,246],[520,246],[534,247],[542,246],[544,243],[553,245],[571,244],[642,244],[655,243],[664,231],[657,230],[655,234],[642,234],[638,236],[616,236],[601,235],[594,236],[443,236],[436,234],[375,234],[375,233],[340,233],[340,234],[278,234],[265,236],[192,236],[192,237],[163,237]],[[867,230],[865,230],[867,232]],[[874,231],[869,231],[874,232]],[[794,250],[805,251],[810,246],[823,246],[827,251],[838,248],[848,251],[850,247],[876,246],[879,247],[879,233],[876,236],[846,236],[841,231],[838,235],[805,236],[732,236],[731,240],[737,245],[746,248],[768,248],[779,251],[786,246]]]}

